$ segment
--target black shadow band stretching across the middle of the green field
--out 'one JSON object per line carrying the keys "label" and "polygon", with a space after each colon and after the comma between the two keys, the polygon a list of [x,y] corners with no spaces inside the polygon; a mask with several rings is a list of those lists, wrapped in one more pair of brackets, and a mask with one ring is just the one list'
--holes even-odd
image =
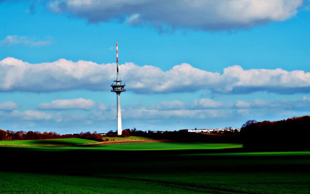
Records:
{"label": "black shadow band stretching across the middle of the green field", "polygon": [[310,155],[229,155],[235,149],[57,150],[0,147],[2,171],[96,176],[164,172],[310,172]]}

